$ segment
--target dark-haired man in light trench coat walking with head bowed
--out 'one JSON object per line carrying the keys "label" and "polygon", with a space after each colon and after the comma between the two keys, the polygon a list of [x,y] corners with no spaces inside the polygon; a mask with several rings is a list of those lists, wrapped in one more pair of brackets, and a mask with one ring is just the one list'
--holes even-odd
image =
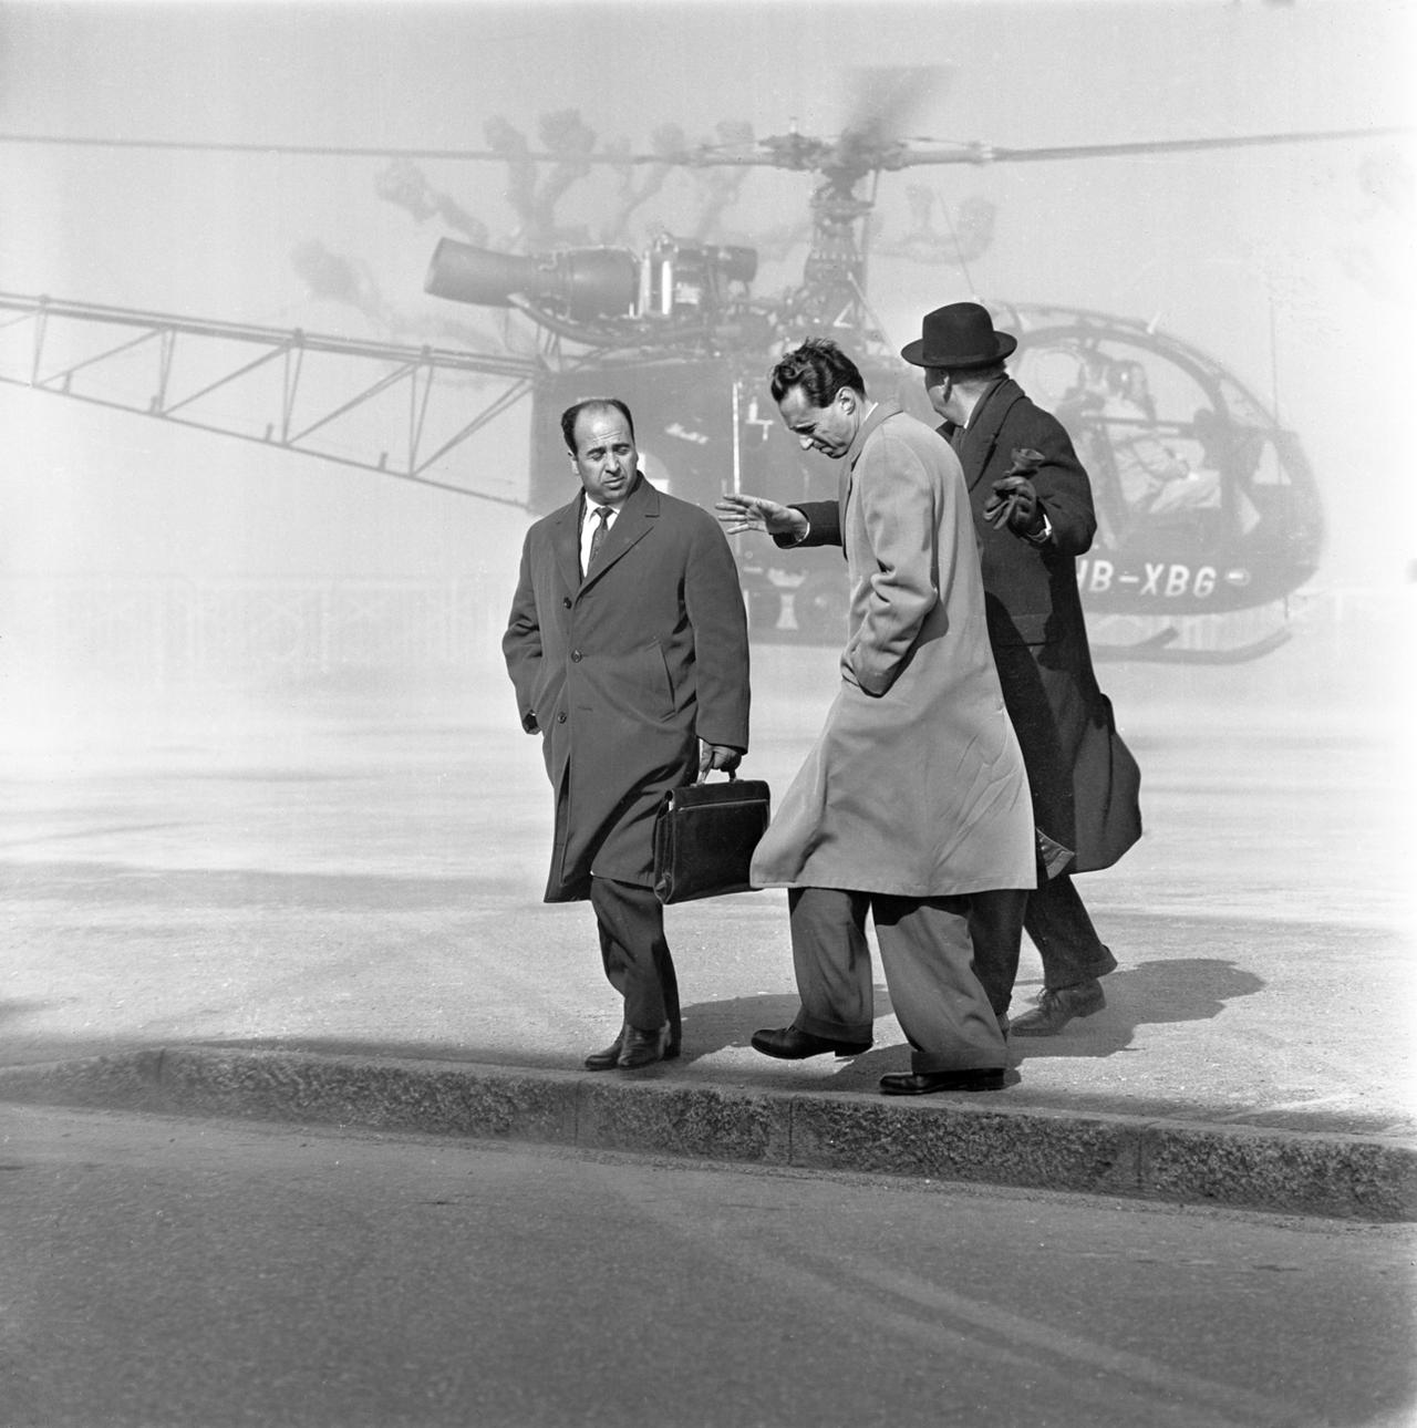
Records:
{"label": "dark-haired man in light trench coat walking with head bowed", "polygon": [[[1014,890],[1021,907],[1034,834],[960,463],[896,403],[868,401],[828,340],[788,353],[771,390],[803,448],[840,461],[851,608],[841,688],[753,858],[756,885],[788,888],[801,995],[793,1024],[753,1045],[784,1060],[870,1047],[870,912],[911,1048],[911,1070],[881,1091],[997,1090],[1007,1048],[974,968],[968,895]],[[730,531],[764,528],[751,497],[718,510]]]}

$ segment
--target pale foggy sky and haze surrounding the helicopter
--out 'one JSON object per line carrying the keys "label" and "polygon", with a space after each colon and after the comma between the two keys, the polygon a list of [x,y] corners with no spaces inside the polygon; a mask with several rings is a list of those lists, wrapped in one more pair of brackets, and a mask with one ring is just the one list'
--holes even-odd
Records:
{"label": "pale foggy sky and haze surrounding the helicopter", "polygon": [[[1411,56],[1401,3],[4,4],[0,130],[483,149],[500,117],[539,149],[541,116],[579,110],[603,143],[644,151],[664,124],[690,143],[733,121],[758,139],[830,136],[853,66],[938,64],[947,81],[913,121],[931,139],[1203,139],[1407,123]],[[414,344],[506,340],[497,314],[423,293],[440,237],[516,241],[503,164],[419,160],[440,208],[414,211],[380,193],[377,157],[0,151],[7,291]],[[1321,660],[1303,633],[1271,660],[1287,661],[1287,688],[1371,713],[1407,658],[1387,631],[1410,605],[1417,528],[1413,173],[1410,140],[1374,139],[886,174],[870,300],[893,347],[923,311],[978,296],[1153,320],[1230,368],[1303,441],[1327,517],[1306,595],[1341,615],[1326,615]],[[750,170],[723,210],[720,241],[761,246],[757,294],[798,281],[793,230],[816,181]],[[557,221],[600,241],[617,183],[593,170]],[[691,231],[711,197],[704,176],[674,173],[617,241]],[[993,211],[967,271],[893,256],[923,201],[941,231],[946,208],[957,224]],[[529,350],[526,327],[511,343]],[[470,388],[470,411],[494,391]],[[229,714],[246,700],[279,713],[321,681],[431,671],[470,681],[459,717],[513,718],[497,638],[529,521],[516,507],[13,386],[0,418],[0,668],[21,745],[111,728],[120,708],[169,717],[203,681]],[[529,420],[523,401],[459,447],[449,478],[523,483]],[[353,624],[331,625],[331,610]],[[174,620],[184,648],[201,643],[181,668]],[[1364,658],[1336,668],[1333,650],[1356,645]],[[1266,664],[1254,678],[1273,680]],[[1204,694],[1213,674],[1186,688]],[[1226,678],[1233,691],[1250,675]]]}

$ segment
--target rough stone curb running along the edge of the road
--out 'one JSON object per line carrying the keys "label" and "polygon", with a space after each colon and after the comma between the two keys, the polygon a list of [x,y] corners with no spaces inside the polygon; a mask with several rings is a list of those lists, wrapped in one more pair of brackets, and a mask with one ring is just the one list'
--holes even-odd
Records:
{"label": "rough stone curb running along the edge of the road", "polygon": [[1417,1147],[1367,1135],[200,1047],[0,1068],[0,1100],[320,1122],[1368,1221],[1417,1220]]}

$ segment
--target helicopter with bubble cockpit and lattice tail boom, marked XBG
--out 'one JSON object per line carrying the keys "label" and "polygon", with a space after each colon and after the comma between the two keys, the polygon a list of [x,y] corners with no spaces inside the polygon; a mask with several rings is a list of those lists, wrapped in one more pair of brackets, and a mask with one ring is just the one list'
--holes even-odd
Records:
{"label": "helicopter with bubble cockpit and lattice tail boom, marked XBG", "polygon": [[[256,328],[171,314],[57,303],[0,294],[7,326],[27,321],[34,348],[23,378],[0,368],[0,380],[206,430],[221,430],[287,450],[344,460],[386,474],[444,486],[486,500],[523,506],[540,516],[564,503],[564,461],[557,416],[573,401],[613,393],[640,417],[640,447],[651,480],[673,494],[711,506],[724,490],[791,503],[820,498],[831,484],[820,463],[808,464],[776,420],[766,373],[780,351],[810,334],[837,338],[857,360],[873,396],[897,397],[934,424],[918,373],[887,346],[867,300],[867,268],[876,233],[876,201],[886,174],[918,166],[1028,163],[1126,154],[1180,153],[1244,146],[1370,139],[1400,130],[1251,134],[1234,139],[1134,141],[1046,149],[998,149],[897,137],[900,120],[920,93],[923,71],[871,76],[870,100],[831,139],[788,131],[754,140],[744,126],[720,126],[721,143],[686,146],[661,131],[650,153],[597,147],[579,116],[543,126],[554,141],[533,150],[506,121],[489,126],[491,147],[463,151],[379,150],[394,161],[381,177],[383,196],[416,211],[439,213],[446,226],[481,238],[480,224],[447,198],[430,197],[410,167],[419,157],[497,161],[507,167],[511,197],[526,221],[523,251],[443,237],[431,254],[424,291],[520,321],[534,350],[500,353],[464,346],[361,343],[301,330]],[[13,139],[14,136],[0,136]],[[139,143],[139,141],[126,141]],[[164,146],[171,147],[171,146]],[[179,146],[186,147],[186,146]],[[199,147],[199,146],[193,146]],[[200,146],[244,147],[244,146]],[[263,146],[270,149],[270,146]],[[279,151],[279,146],[277,146]],[[301,151],[291,146],[291,151]],[[620,226],[676,169],[741,176],[773,167],[816,177],[808,200],[807,254],[800,281],[776,296],[754,296],[760,254],[748,243],[713,240],[711,227],[691,236],[657,231],[640,250],[604,241],[556,241],[554,197],[593,167],[621,174],[643,170],[650,183],[626,191]],[[549,166],[549,167],[547,167]],[[550,177],[536,188],[536,174]],[[731,196],[720,184],[720,203]],[[800,230],[798,230],[800,231]],[[539,238],[551,241],[539,247]],[[951,234],[958,253],[960,240]],[[1077,561],[1084,607],[1096,615],[1150,621],[1157,628],[1128,643],[1100,643],[1098,657],[1238,661],[1273,650],[1288,637],[1287,600],[1318,570],[1323,511],[1314,474],[1293,431],[1216,358],[1141,320],[1046,304],[984,298],[996,326],[1014,333],[1013,374],[1073,436],[1090,471],[1098,514],[1093,548]],[[117,328],[117,346],[80,357],[46,358],[44,343],[63,320],[90,330]],[[189,380],[179,393],[179,343],[214,350],[256,344],[256,357],[229,358],[217,371]],[[126,400],[97,396],[84,380],[117,357],[159,353],[159,383]],[[383,376],[341,396],[327,411],[297,417],[306,368],[320,356],[381,364]],[[279,414],[264,431],[203,418],[201,398],[261,367],[279,363]],[[431,441],[429,413],[436,391],[466,403],[457,378],[500,377],[509,386],[474,417],[459,420]],[[439,384],[441,378],[441,386]],[[307,384],[309,386],[309,384]],[[311,438],[376,396],[399,387],[409,397],[407,458],[381,450],[351,460],[321,451]],[[430,467],[523,398],[531,404],[530,474],[524,494],[470,488],[436,478]],[[834,551],[776,551],[738,543],[750,624],[763,638],[834,641],[848,591]],[[766,543],[764,543],[766,544]],[[1194,617],[1277,610],[1278,625],[1240,643],[1196,647],[1180,638]]]}

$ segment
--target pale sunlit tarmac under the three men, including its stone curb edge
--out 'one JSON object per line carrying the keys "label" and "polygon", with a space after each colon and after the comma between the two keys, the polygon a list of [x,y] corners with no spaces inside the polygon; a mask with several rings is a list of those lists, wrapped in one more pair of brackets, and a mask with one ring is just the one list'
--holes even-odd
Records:
{"label": "pale sunlit tarmac under the three men, including its stone curb edge", "polygon": [[[748,1047],[796,1010],[780,891],[671,908],[683,1058],[580,1071],[619,1012],[589,907],[539,900],[550,791],[491,663],[31,688],[0,748],[0,1097],[1417,1218],[1400,648],[1103,665],[1147,825],[1080,884],[1107,1007],[1014,1038],[1004,1091],[907,1101],[876,1090],[907,1065],[878,968],[870,1052]],[[754,661],[744,773],[783,790],[836,657]],[[1016,1007],[1040,987],[1026,945]]]}

